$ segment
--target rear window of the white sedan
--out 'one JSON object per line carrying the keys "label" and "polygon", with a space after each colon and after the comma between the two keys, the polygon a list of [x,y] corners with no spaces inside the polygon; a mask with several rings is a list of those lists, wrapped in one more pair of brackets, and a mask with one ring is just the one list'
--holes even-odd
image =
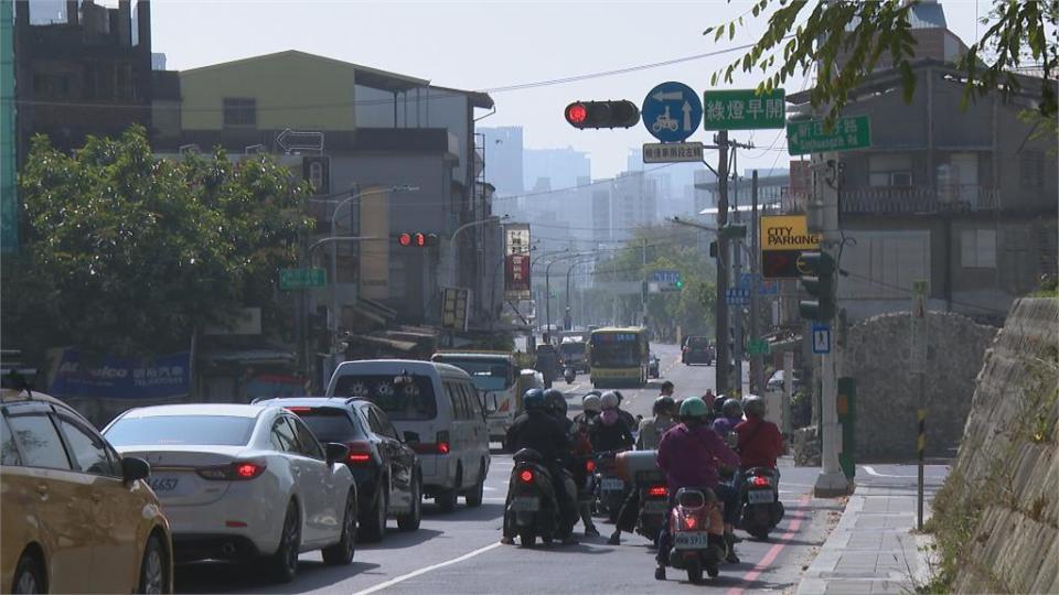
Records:
{"label": "rear window of the white sedan", "polygon": [[249,442],[254,421],[234,415],[122,418],[106,436],[115,446],[240,446]]}

